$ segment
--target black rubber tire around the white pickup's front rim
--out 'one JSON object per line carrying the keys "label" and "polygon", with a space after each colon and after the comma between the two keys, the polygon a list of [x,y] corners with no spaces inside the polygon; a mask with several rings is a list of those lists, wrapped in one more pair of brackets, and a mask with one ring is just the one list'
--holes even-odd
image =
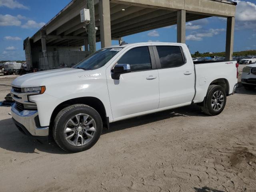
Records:
{"label": "black rubber tire around the white pickup's front rim", "polygon": [[[75,116],[81,113],[88,114],[94,119],[96,124],[96,131],[94,132],[92,139],[88,143],[82,146],[74,146],[66,140],[64,136],[64,129],[68,120],[72,118],[72,116]],[[102,133],[102,119],[100,117],[100,114],[94,108],[88,105],[74,104],[74,105],[68,106],[63,110],[61,110],[57,114],[54,120],[53,138],[55,142],[58,144],[58,146],[60,146],[60,148],[62,148],[66,152],[81,152],[81,151],[90,149],[92,146],[94,146],[94,144],[96,144],[96,142],[100,138],[101,133]]]}

